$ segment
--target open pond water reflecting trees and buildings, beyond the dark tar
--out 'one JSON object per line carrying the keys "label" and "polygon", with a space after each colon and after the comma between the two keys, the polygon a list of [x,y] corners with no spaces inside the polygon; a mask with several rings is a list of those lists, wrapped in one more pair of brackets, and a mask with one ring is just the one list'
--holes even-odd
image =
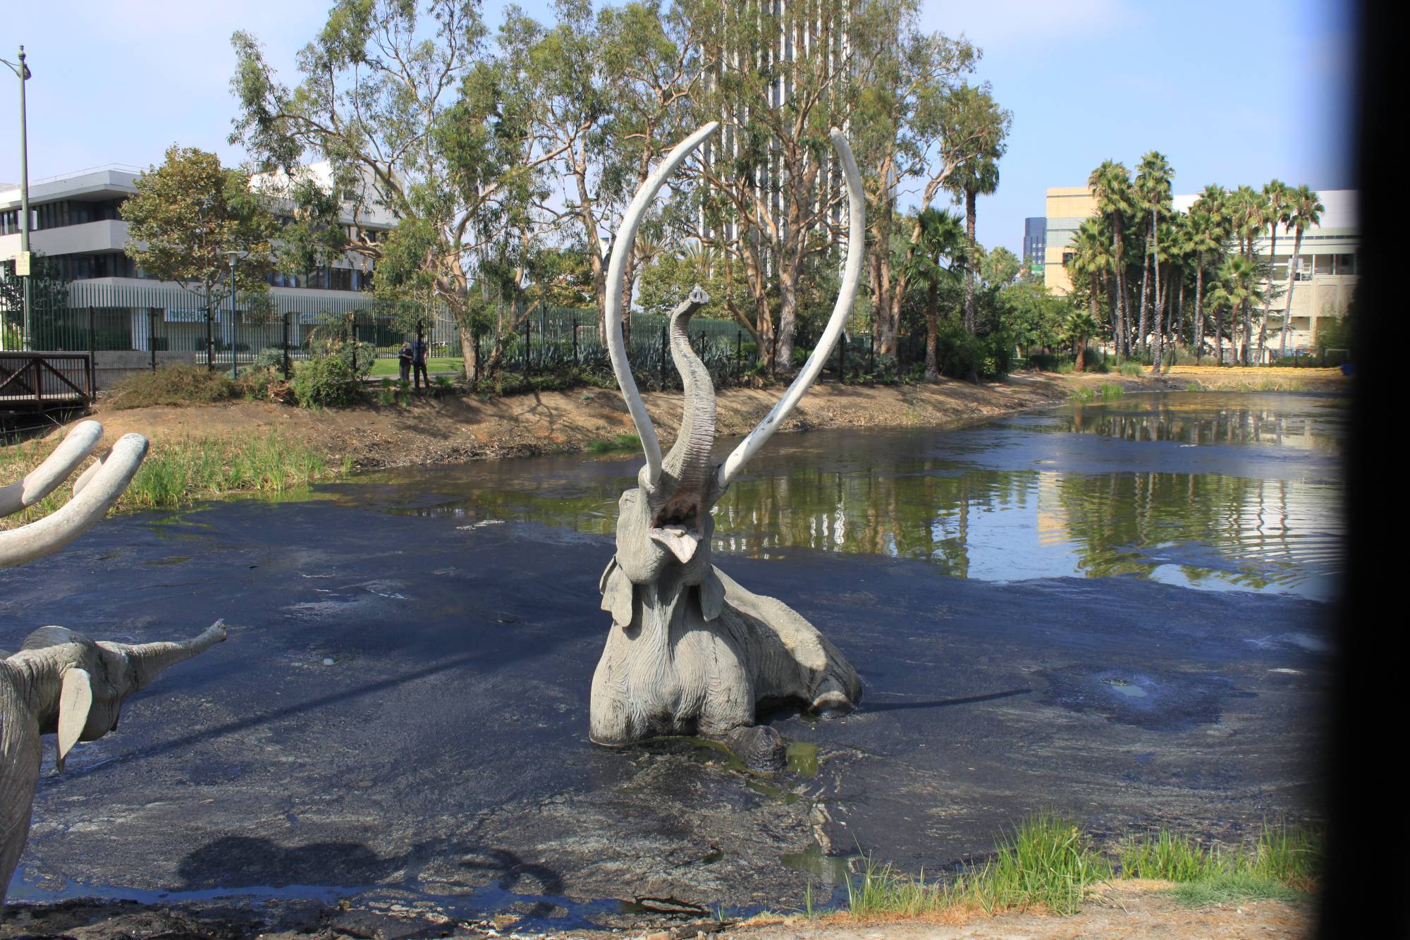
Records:
{"label": "open pond water reflecting trees and buildings, beyond the dark tar", "polygon": [[[1069,419],[1074,430],[1128,440],[1244,443],[1272,436],[1287,443],[1289,436],[1311,433],[1258,408],[1163,418],[1074,409]],[[400,511],[467,525],[515,519],[612,535],[625,486],[629,477],[526,481],[477,474],[446,487],[451,493],[439,505]],[[716,508],[715,545],[754,558],[794,548],[888,555],[931,562],[960,577],[970,574],[976,542],[986,572],[1005,552],[1015,553],[1012,570],[1034,570],[1022,553],[1042,550],[1070,558],[1070,567],[1059,562],[1059,570],[1149,577],[1163,555],[1190,582],[1218,572],[1222,580],[1263,587],[1337,569],[1338,500],[1334,484],[1289,480],[990,470],[894,450],[829,466],[808,454],[736,481]],[[1014,514],[1021,515],[1017,524]],[[1220,558],[1200,559],[1200,550]]]}

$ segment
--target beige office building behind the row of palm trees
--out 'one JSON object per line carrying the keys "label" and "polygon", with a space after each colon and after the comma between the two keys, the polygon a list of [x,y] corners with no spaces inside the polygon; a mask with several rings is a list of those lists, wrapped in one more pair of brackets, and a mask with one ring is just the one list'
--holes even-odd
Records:
{"label": "beige office building behind the row of palm trees", "polygon": [[[1317,336],[1318,322],[1341,318],[1351,306],[1356,291],[1356,191],[1323,189],[1318,199],[1325,206],[1321,223],[1303,233],[1301,253],[1294,263],[1297,288],[1293,291],[1292,320],[1287,342],[1293,349],[1308,350]],[[1177,212],[1189,212],[1197,195],[1173,198]],[[1056,186],[1048,191],[1046,246],[1043,248],[1043,284],[1058,294],[1072,289],[1066,263],[1073,254],[1077,226],[1097,213],[1097,200],[1086,186]],[[1266,258],[1273,248],[1272,233],[1265,231],[1253,241],[1253,251]],[[1277,253],[1273,254],[1273,298],[1268,335],[1272,353],[1277,350],[1277,332],[1287,313],[1287,264],[1293,254],[1294,236],[1277,227]],[[1255,330],[1256,332],[1256,330]]]}

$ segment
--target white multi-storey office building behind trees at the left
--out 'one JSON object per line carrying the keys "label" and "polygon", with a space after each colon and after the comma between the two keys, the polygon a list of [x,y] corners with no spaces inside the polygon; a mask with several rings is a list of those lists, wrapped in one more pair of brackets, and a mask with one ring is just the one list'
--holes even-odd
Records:
{"label": "white multi-storey office building behind trees at the left", "polygon": [[[329,164],[312,164],[306,168],[312,176],[330,183]],[[134,181],[141,172],[137,167],[107,165],[83,169],[73,174],[38,179],[30,183],[30,248],[42,254],[47,264],[55,265],[70,282],[70,295],[79,292],[87,302],[92,298],[104,299],[100,308],[106,329],[125,322],[130,329],[130,353],[134,358],[147,361],[142,350],[161,350],[161,360],[189,361],[197,349],[204,347],[206,313],[200,301],[180,289],[173,282],[162,282],[138,270],[123,248],[127,246],[127,223],[123,222],[120,206],[128,195],[137,192]],[[257,176],[255,185],[268,186],[275,193],[279,179]],[[281,200],[275,198],[275,213]],[[395,219],[384,209],[360,212],[354,219],[351,207],[344,212],[341,223],[348,234],[354,226],[365,237],[375,240],[378,233],[391,229]],[[20,253],[20,189],[0,188],[0,264],[13,263]],[[357,255],[344,255],[329,267],[303,274],[272,274],[269,296],[276,311],[298,311],[295,336],[299,342],[302,326],[313,320],[312,315],[320,306],[348,309],[357,302],[371,305],[371,264]],[[111,288],[111,289],[85,289]],[[134,288],[123,291],[121,288]],[[162,289],[165,288],[165,289]],[[134,305],[124,305],[123,298],[134,298]],[[221,311],[224,316],[224,311]],[[238,311],[237,311],[238,315]],[[18,312],[8,312],[7,320],[14,323]],[[162,342],[152,349],[151,333],[157,329]],[[3,335],[3,332],[0,332]],[[11,333],[11,340],[14,335]],[[118,361],[116,353],[104,353],[104,361]],[[204,360],[202,360],[204,361]]]}

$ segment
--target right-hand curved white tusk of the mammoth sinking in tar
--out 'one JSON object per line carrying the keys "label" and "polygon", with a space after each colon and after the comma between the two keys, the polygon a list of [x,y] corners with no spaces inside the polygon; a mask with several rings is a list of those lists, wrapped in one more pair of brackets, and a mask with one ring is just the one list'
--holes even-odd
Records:
{"label": "right-hand curved white tusk of the mammoth sinking in tar", "polygon": [[715,481],[721,490],[729,486],[740,467],[778,430],[778,425],[784,422],[788,412],[794,409],[798,399],[804,397],[808,387],[818,378],[823,363],[832,354],[832,347],[838,342],[838,336],[842,335],[842,327],[847,323],[847,316],[852,315],[852,302],[857,296],[857,284],[862,281],[867,207],[866,196],[862,192],[862,174],[857,172],[857,161],[852,155],[847,138],[838,128],[832,128],[832,147],[838,151],[838,158],[842,161],[842,172],[847,178],[847,264],[842,271],[842,291],[838,292],[838,303],[832,308],[832,319],[828,320],[828,329],[822,332],[818,347],[812,350],[812,356],[808,357],[792,385],[788,387],[788,391],[778,399],[773,411],[759,422],[759,426],[749,432],[749,436],[740,440],[739,446],[719,466]]}

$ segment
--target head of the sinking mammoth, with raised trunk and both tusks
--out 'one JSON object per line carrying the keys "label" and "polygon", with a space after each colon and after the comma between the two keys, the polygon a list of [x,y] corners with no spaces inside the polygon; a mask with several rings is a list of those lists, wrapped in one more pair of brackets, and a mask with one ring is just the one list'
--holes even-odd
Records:
{"label": "head of the sinking mammoth, with raised trunk and both tusks", "polygon": [[[709,302],[709,296],[699,287],[692,289],[689,298],[671,313],[671,360],[681,374],[685,402],[680,435],[671,452],[663,459],[656,428],[651,425],[642,395],[636,388],[622,340],[622,278],[637,226],[651,199],[685,157],[716,130],[719,130],[719,123],[711,123],[687,137],[647,178],[622,217],[622,229],[613,243],[612,260],[608,264],[608,351],[612,356],[612,370],[646,454],[646,464],[637,474],[637,486],[623,493],[618,504],[618,553],[613,566],[619,566],[620,573],[634,584],[656,582],[666,574],[684,584],[701,584],[708,580],[711,573],[709,539],[713,531],[711,511],[715,508],[715,502],[744,463],[778,429],[798,399],[816,380],[818,373],[822,371],[823,363],[826,363],[838,336],[842,335],[847,315],[852,312],[852,302],[862,277],[866,233],[862,176],[857,172],[847,138],[842,131],[833,130],[832,145],[838,152],[838,161],[847,182],[849,224],[847,263],[828,327],[812,356],[808,357],[807,364],[773,411],[735,447],[723,463],[716,464],[712,459],[715,387],[705,364],[691,349],[687,332],[691,316]],[[612,580],[613,570],[615,567],[609,566],[609,573],[603,580],[605,586]]]}

